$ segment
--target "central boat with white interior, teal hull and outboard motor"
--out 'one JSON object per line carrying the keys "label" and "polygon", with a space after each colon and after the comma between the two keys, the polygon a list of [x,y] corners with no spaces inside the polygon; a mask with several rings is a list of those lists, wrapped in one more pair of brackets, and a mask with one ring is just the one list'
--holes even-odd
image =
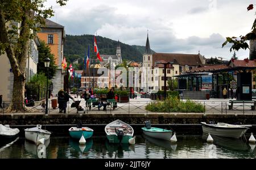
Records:
{"label": "central boat with white interior, teal hull and outboard motor", "polygon": [[133,127],[118,119],[105,126],[105,133],[109,143],[135,144]]}

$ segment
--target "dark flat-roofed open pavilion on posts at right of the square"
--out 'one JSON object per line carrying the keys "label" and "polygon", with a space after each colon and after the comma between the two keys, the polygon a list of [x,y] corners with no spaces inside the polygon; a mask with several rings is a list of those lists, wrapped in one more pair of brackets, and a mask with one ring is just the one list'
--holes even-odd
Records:
{"label": "dark flat-roofed open pavilion on posts at right of the square", "polygon": [[[253,82],[253,74],[256,69],[256,60],[230,60],[227,65],[205,65],[204,67],[193,68],[187,72],[187,74],[180,75],[179,78],[188,77],[189,90],[200,90],[201,76],[207,73],[212,73],[212,96],[216,98],[222,98],[222,90],[226,88],[233,97],[233,89],[230,86],[232,80],[237,81],[237,99],[251,100],[252,86],[255,86]],[[199,76],[198,76],[199,75]],[[189,77],[191,80],[189,80]],[[189,82],[191,81],[191,82]],[[184,84],[184,82],[183,82]],[[231,90],[230,90],[231,89]]]}

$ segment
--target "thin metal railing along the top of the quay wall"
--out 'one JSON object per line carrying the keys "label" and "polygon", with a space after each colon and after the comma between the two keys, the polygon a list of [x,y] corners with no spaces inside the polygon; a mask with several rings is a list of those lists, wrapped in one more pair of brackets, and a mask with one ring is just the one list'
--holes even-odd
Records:
{"label": "thin metal railing along the top of the quay wall", "polygon": [[[169,107],[171,106],[170,101],[140,101],[139,99],[137,101],[122,101],[121,103],[117,103],[117,106],[113,106],[113,103],[109,103],[106,106],[106,110],[103,110],[104,106],[101,106],[98,108],[98,104],[95,103],[93,105],[91,103],[91,106],[86,107],[86,102],[84,99],[81,99],[80,106],[84,108],[84,110],[77,111],[76,107],[71,107],[71,104],[73,101],[67,102],[67,109],[66,114],[192,114],[193,112],[189,112],[189,106],[188,101],[182,101],[184,102],[184,105],[186,105],[186,108],[183,108],[183,111],[170,111],[170,109],[167,108],[167,110],[164,111],[149,111],[146,109],[146,107],[150,103],[158,104],[158,102],[164,103],[164,106]],[[189,101],[191,102],[191,101]],[[227,101],[193,101],[196,103],[200,103],[201,106],[203,106],[203,112],[200,113],[193,113],[193,114],[256,114],[255,106],[253,106],[250,103],[234,103],[233,108],[230,108],[230,103]],[[6,109],[10,105],[10,101],[4,101],[2,103],[3,109],[0,109],[0,113],[7,114]],[[20,105],[22,103],[23,105],[23,111],[21,113],[23,114],[44,114],[45,113],[45,107],[41,106],[41,103],[35,103],[34,106],[27,107],[31,110],[31,112],[26,111],[24,102],[16,102],[14,105]],[[110,105],[111,104],[111,105]],[[63,114],[59,113],[59,108],[56,107],[56,109],[52,108],[51,101],[48,103],[48,113],[49,114]],[[12,113],[13,114],[13,113]]]}

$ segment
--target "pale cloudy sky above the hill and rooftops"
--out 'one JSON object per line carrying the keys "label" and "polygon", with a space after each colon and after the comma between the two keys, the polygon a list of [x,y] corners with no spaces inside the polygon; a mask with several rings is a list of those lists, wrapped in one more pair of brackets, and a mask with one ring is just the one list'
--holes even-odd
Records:
{"label": "pale cloudy sky above the hill and rooftops", "polygon": [[[60,7],[48,0],[66,34],[91,34],[120,40],[130,45],[146,45],[156,52],[198,53],[205,57],[230,59],[229,46],[221,48],[225,37],[250,32],[255,9],[247,12],[247,0],[69,0]],[[239,59],[249,50],[237,52]]]}

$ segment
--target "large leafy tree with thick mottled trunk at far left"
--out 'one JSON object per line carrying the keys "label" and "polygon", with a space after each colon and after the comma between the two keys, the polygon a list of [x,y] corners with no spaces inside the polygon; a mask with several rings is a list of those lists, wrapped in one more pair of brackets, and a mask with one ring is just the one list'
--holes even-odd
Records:
{"label": "large leafy tree with thick mottled trunk at far left", "polygon": [[[68,0],[57,0],[61,6]],[[13,98],[7,111],[24,111],[26,63],[30,40],[44,25],[45,18],[53,16],[52,7],[46,8],[44,0],[0,1],[0,53],[6,53],[14,74]],[[27,111],[28,109],[25,108]]]}

